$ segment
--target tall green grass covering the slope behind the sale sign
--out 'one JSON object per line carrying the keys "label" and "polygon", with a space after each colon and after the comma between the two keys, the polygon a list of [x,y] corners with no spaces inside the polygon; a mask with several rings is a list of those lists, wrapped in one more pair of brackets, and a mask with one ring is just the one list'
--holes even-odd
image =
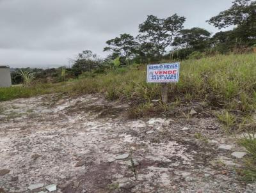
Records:
{"label": "tall green grass covering the slope behind the sale sign", "polygon": [[[168,62],[168,61],[164,61]],[[217,55],[180,63],[180,81],[168,84],[171,101],[200,100],[216,107],[244,113],[256,107],[256,54]],[[62,86],[61,86],[62,85]],[[130,65],[106,73],[84,73],[62,84],[0,88],[0,100],[63,92],[104,93],[109,100],[130,99],[138,103],[159,99],[160,84],[147,84],[146,65]]]}

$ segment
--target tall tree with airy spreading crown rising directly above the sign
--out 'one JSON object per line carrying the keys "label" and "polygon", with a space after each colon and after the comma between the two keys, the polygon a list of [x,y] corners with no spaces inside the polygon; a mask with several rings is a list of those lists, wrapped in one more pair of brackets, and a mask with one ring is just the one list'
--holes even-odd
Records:
{"label": "tall tree with airy spreading crown rising directly above the sign", "polygon": [[179,17],[177,14],[166,19],[148,15],[147,20],[139,26],[141,34],[138,38],[141,42],[153,45],[154,49],[152,51],[156,52],[157,58],[161,59],[161,56],[166,52],[166,48],[172,44],[173,38],[183,28],[185,20],[185,17]]}

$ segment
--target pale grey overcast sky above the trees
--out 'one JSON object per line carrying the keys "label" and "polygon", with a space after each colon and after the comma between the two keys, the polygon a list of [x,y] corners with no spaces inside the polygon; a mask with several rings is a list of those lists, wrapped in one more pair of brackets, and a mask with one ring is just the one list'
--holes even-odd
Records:
{"label": "pale grey overcast sky above the trees", "polygon": [[177,13],[184,27],[218,31],[205,20],[226,10],[233,0],[0,0],[0,65],[43,67],[70,65],[81,50],[106,56],[106,40],[138,34],[147,15]]}

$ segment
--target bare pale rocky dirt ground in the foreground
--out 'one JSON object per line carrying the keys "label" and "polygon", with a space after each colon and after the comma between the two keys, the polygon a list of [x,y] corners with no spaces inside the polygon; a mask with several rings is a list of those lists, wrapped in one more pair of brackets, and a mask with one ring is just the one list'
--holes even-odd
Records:
{"label": "bare pale rocky dirt ground in the foreground", "polygon": [[183,105],[138,120],[127,118],[129,104],[99,95],[0,106],[0,192],[256,192],[236,173],[242,159],[231,153],[244,150],[204,104],[190,117]]}

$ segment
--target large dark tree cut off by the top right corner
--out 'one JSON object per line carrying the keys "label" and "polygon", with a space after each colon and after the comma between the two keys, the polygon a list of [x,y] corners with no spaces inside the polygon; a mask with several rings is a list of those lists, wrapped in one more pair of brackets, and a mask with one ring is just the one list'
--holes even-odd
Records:
{"label": "large dark tree cut off by the top right corner", "polygon": [[219,15],[207,20],[219,29],[236,26],[237,38],[247,43],[256,41],[256,1],[236,0],[232,6]]}

